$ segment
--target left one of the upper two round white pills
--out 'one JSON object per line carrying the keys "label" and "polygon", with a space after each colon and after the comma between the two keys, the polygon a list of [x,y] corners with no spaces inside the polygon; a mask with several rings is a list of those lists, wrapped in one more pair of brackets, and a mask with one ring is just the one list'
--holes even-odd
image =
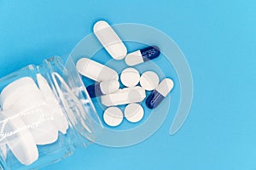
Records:
{"label": "left one of the upper two round white pills", "polygon": [[134,68],[127,68],[122,71],[120,79],[126,87],[133,87],[140,82],[140,73]]}

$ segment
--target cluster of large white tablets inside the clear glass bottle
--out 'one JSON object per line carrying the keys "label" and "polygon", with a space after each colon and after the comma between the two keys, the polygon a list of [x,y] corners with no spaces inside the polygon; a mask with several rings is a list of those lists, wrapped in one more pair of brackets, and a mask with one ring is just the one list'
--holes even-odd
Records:
{"label": "cluster of large white tablets inside the clear glass bottle", "polygon": [[55,143],[59,132],[66,134],[69,128],[47,80],[37,74],[37,82],[31,77],[22,77],[1,92],[1,121],[7,124],[1,137],[4,136],[4,143],[24,165],[38,160],[38,145]]}

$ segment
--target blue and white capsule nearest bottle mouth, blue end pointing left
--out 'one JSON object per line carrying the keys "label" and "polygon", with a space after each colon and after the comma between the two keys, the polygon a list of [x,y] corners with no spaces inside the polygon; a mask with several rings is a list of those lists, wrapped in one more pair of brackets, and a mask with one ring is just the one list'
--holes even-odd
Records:
{"label": "blue and white capsule nearest bottle mouth, blue end pointing left", "polygon": [[88,86],[87,92],[90,95],[90,98],[96,98],[104,94],[111,94],[119,89],[119,81],[117,80],[108,80],[105,82],[97,82]]}

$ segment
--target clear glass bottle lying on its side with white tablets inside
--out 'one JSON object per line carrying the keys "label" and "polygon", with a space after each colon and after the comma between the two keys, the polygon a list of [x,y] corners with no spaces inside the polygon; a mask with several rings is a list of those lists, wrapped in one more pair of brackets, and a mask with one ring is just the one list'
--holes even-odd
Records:
{"label": "clear glass bottle lying on its side with white tablets inside", "polygon": [[28,65],[0,79],[0,169],[39,169],[102,133],[72,60]]}

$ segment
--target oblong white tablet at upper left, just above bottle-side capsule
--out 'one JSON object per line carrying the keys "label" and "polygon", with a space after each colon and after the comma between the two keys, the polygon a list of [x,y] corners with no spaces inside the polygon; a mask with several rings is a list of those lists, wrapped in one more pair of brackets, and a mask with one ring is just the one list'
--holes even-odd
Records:
{"label": "oblong white tablet at upper left, just above bottle-side capsule", "polygon": [[119,75],[116,71],[92,59],[79,59],[76,67],[81,75],[83,75],[84,77],[88,77],[96,82],[119,79]]}

